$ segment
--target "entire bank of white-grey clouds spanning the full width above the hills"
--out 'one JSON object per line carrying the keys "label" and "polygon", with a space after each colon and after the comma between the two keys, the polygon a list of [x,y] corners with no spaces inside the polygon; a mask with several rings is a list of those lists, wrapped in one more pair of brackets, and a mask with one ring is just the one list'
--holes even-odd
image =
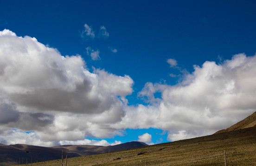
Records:
{"label": "entire bank of white-grey clouds spanning the full width above the hills", "polygon": [[150,127],[168,131],[174,141],[212,134],[256,111],[256,56],[244,53],[194,65],[176,85],[148,82],[138,94],[148,104],[134,106],[126,99],[131,77],[90,72],[80,55],[64,57],[34,37],[0,31],[0,59],[0,143],[108,144],[85,137]]}

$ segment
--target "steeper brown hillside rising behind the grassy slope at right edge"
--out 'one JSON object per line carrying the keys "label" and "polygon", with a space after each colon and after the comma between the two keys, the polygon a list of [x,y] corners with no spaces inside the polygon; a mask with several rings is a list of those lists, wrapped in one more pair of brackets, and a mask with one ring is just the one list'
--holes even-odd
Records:
{"label": "steeper brown hillside rising behind the grassy slope at right edge", "polygon": [[227,129],[217,131],[215,134],[227,132],[227,131],[245,129],[245,128],[254,127],[254,126],[256,126],[256,112],[251,114],[249,117],[241,120],[240,122],[236,123],[235,125],[230,126]]}

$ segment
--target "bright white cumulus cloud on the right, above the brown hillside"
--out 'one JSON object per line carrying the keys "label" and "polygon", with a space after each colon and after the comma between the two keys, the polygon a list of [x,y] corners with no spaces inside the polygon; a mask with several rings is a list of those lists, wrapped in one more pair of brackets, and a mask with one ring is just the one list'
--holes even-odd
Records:
{"label": "bright white cumulus cloud on the right, above the brown hillside", "polygon": [[[169,140],[225,129],[256,109],[256,55],[234,55],[222,64],[206,61],[176,85],[146,83],[140,96],[149,105],[126,108],[117,126],[168,130]],[[154,93],[161,92],[156,104]],[[133,119],[133,123],[129,123]]]}

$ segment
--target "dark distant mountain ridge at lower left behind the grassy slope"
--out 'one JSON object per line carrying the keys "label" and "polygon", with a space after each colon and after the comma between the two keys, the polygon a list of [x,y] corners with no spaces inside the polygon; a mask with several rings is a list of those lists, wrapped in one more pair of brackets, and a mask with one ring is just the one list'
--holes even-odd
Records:
{"label": "dark distant mountain ridge at lower left behind the grassy slope", "polygon": [[[32,162],[61,159],[62,151],[64,157],[79,157],[91,154],[102,154],[129,148],[147,146],[143,142],[126,142],[114,146],[96,145],[63,145],[56,147],[41,147],[26,144],[4,145],[0,143],[0,166],[10,164],[26,164]],[[23,161],[22,161],[23,160]]]}

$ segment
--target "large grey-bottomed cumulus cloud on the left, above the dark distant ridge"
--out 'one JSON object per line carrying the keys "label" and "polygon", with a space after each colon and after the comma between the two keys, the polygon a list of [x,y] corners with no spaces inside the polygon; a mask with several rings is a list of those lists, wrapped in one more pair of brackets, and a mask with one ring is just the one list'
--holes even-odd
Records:
{"label": "large grey-bottomed cumulus cloud on the left, above the dark distant ridge", "polygon": [[40,145],[120,135],[110,125],[125,115],[129,76],[90,72],[80,55],[64,57],[10,30],[0,31],[0,59],[0,123],[2,130],[17,129],[1,142],[21,131],[32,133],[17,136],[21,143]]}

